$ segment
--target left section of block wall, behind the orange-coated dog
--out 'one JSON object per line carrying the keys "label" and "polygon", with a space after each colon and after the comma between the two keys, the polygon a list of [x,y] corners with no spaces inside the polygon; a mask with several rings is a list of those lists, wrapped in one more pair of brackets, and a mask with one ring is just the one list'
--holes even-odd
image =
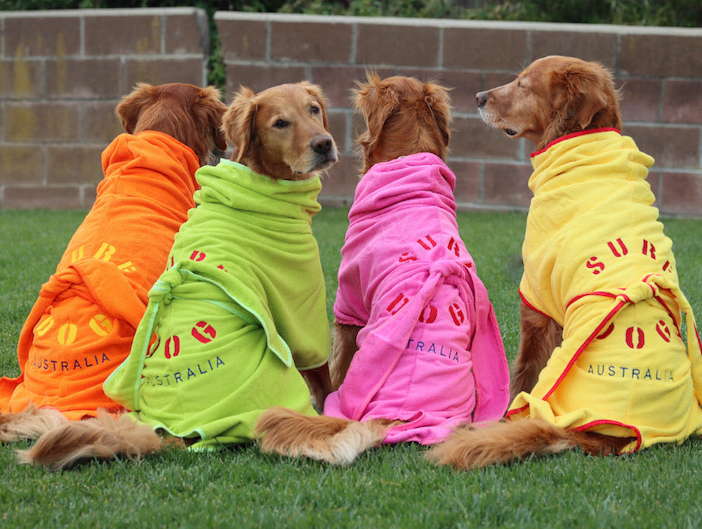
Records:
{"label": "left section of block wall, behind the orange-coated dog", "polygon": [[138,81],[206,82],[195,8],[0,11],[0,207],[84,208]]}

